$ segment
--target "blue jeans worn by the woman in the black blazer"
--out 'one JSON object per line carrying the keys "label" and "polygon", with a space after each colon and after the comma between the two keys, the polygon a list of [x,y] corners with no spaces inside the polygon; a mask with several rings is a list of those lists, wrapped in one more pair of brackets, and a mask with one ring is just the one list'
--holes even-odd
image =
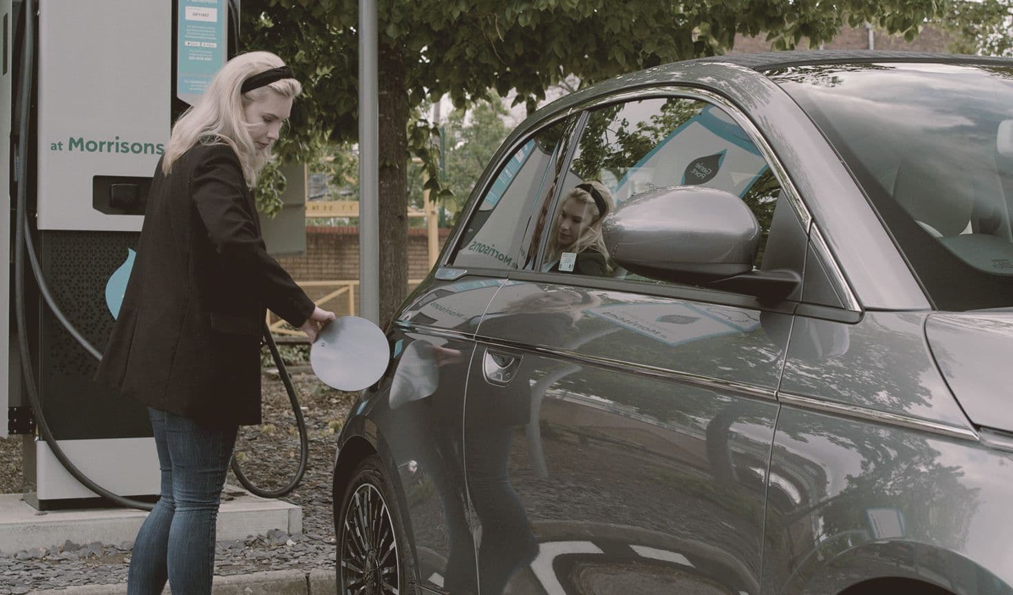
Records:
{"label": "blue jeans worn by the woman in the black blazer", "polygon": [[162,472],[161,497],[141,525],[130,563],[128,595],[210,595],[215,530],[236,426],[213,428],[148,408]]}

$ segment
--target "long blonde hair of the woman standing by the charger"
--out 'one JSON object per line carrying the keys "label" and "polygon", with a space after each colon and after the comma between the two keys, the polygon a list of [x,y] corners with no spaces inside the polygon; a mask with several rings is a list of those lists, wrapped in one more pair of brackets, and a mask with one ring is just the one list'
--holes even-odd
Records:
{"label": "long blonde hair of the woman standing by the charger", "polygon": [[303,87],[296,79],[282,79],[246,93],[241,93],[240,89],[243,81],[251,76],[282,66],[285,66],[282,59],[270,52],[240,54],[225,63],[204,96],[173,124],[162,156],[162,173],[168,175],[176,160],[198,143],[228,145],[239,158],[246,184],[252,187],[257,174],[270,160],[270,153],[259,150],[253,142],[243,109],[263,98],[268,91],[295,98],[302,93]]}

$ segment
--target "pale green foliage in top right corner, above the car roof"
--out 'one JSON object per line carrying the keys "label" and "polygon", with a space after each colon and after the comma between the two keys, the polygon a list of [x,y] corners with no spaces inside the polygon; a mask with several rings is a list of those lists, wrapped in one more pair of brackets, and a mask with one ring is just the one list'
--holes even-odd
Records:
{"label": "pale green foliage in top right corner, above the car roof", "polygon": [[956,54],[1013,56],[1013,0],[955,0],[939,24]]}

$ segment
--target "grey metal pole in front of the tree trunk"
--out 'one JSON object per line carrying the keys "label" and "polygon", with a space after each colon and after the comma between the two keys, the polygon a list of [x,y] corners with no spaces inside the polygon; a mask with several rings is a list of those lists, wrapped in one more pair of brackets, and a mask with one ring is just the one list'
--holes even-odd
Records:
{"label": "grey metal pole in front of the tree trunk", "polygon": [[377,6],[359,0],[359,316],[380,324]]}

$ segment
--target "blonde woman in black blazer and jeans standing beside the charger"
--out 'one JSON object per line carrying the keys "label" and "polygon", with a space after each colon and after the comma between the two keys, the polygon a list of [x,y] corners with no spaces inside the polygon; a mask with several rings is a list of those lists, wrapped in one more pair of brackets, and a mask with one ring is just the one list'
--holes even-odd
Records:
{"label": "blonde woman in black blazer and jeans standing beside the charger", "polygon": [[161,495],[129,595],[208,595],[239,425],[260,423],[269,308],[315,339],[317,308],[264,248],[250,187],[302,87],[266,52],[230,60],[183,113],[155,170],[137,258],[96,379],[148,406]]}

